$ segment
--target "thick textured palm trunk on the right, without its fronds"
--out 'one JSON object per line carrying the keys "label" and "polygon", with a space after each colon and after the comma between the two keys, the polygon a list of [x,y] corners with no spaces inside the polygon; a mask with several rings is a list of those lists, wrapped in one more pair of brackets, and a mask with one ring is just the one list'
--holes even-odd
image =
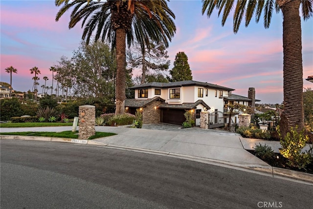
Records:
{"label": "thick textured palm trunk on the right, without its fronds", "polygon": [[296,125],[298,125],[299,129],[304,128],[302,95],[303,67],[299,7],[300,1],[296,0],[281,5],[284,18],[284,113],[282,117],[287,122],[288,129]]}

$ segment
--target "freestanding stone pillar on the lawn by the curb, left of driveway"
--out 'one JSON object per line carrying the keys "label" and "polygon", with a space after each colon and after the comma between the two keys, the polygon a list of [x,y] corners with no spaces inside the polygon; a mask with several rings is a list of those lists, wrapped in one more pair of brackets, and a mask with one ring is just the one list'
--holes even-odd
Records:
{"label": "freestanding stone pillar on the lawn by the curb, left of driveway", "polygon": [[95,135],[96,108],[92,105],[79,106],[79,131],[78,139],[88,139]]}

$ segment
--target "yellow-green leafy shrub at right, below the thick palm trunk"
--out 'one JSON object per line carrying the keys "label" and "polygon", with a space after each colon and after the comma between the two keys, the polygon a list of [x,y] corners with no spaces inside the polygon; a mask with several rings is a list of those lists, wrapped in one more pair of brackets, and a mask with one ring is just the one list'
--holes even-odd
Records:
{"label": "yellow-green leafy shrub at right, below the thick palm trunk", "polygon": [[309,137],[304,135],[305,130],[298,132],[297,129],[298,126],[295,128],[291,127],[290,132],[288,132],[283,139],[279,131],[279,126],[277,126],[277,132],[280,136],[280,144],[282,146],[282,148],[279,149],[279,152],[289,160],[288,165],[302,169],[312,163],[312,155],[308,152],[302,152]]}

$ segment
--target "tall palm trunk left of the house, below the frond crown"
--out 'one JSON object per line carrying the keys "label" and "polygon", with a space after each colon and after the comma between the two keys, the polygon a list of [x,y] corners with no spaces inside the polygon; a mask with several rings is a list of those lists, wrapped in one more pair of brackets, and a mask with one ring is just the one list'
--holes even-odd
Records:
{"label": "tall palm trunk left of the house, below the frond crown", "polygon": [[125,88],[126,88],[126,31],[125,29],[116,29],[116,109],[115,115],[123,114],[125,107]]}

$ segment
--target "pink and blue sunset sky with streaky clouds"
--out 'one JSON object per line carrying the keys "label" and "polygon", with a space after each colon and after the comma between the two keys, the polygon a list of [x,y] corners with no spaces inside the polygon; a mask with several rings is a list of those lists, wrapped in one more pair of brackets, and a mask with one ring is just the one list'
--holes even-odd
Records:
{"label": "pink and blue sunset sky with streaky clouds", "polygon": [[[171,0],[169,7],[176,15],[176,34],[168,48],[170,69],[179,51],[188,56],[193,80],[218,84],[235,89],[233,93],[247,96],[254,87],[259,103],[283,101],[282,14],[274,14],[270,27],[254,19],[246,28],[232,32],[232,15],[224,27],[215,11],[211,18],[201,15],[201,0]],[[29,69],[38,67],[39,77],[47,76],[52,84],[49,68],[61,56],[72,57],[81,42],[81,24],[68,29],[69,12],[55,22],[59,8],[54,0],[0,0],[0,81],[10,83],[5,68],[18,70],[12,76],[17,91],[32,88]],[[303,84],[313,75],[313,18],[302,21]],[[39,88],[39,93],[41,93]]]}

